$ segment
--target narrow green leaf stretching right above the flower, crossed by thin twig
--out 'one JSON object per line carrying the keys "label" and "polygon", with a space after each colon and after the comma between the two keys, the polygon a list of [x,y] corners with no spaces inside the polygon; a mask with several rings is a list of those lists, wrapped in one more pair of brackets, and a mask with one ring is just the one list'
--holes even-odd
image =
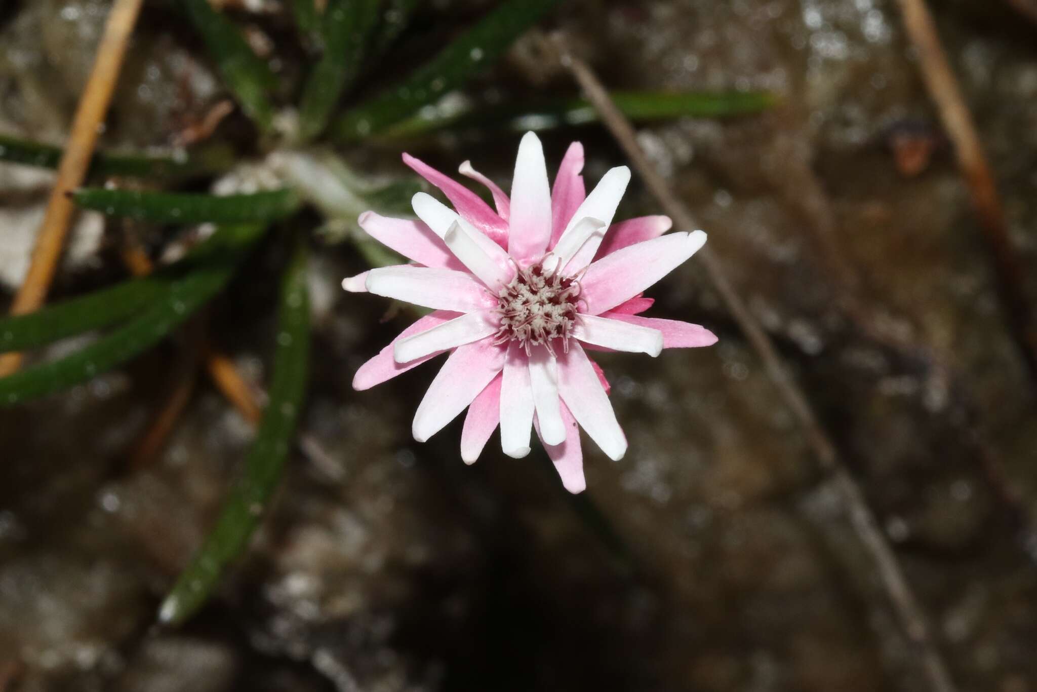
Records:
{"label": "narrow green leaf stretching right above the flower, crossed by thin twig", "polygon": [[[677,117],[721,118],[751,115],[774,107],[778,96],[767,91],[667,92],[614,91],[610,94],[626,117],[638,122]],[[469,106],[443,112],[427,109],[402,120],[379,137],[419,137],[440,130],[498,128],[514,132],[541,132],[598,121],[597,111],[584,99],[553,99],[539,103],[510,103],[488,108]]]}

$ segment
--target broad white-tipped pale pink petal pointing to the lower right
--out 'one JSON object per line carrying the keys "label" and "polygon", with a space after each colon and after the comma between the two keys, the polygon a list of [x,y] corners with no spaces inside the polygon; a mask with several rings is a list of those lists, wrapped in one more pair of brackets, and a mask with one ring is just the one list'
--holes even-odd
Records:
{"label": "broad white-tipped pale pink petal pointing to the lower right", "polygon": [[626,453],[616,413],[587,354],[578,342],[569,342],[569,352],[558,360],[558,391],[572,417],[609,459],[618,462]]}

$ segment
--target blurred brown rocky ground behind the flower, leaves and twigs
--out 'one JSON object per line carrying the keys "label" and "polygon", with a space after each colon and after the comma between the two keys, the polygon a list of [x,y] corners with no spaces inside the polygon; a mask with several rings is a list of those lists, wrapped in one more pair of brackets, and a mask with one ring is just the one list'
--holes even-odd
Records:
{"label": "blurred brown rocky ground behind the flower, leaves and twigs", "polygon": [[[283,2],[223,4],[273,45],[291,30]],[[491,4],[429,0],[411,31]],[[1037,25],[1003,0],[930,5],[1015,247],[1037,267]],[[0,3],[0,132],[62,141],[107,6]],[[805,383],[961,689],[1037,691],[1034,383],[895,3],[569,0],[549,24],[613,88],[781,94],[761,116],[639,137]],[[289,81],[301,72],[280,59]],[[386,64],[369,84],[391,78]],[[473,89],[574,92],[534,36]],[[224,96],[183,19],[145,3],[104,145],[167,145]],[[544,136],[550,166],[572,139],[589,183],[621,162],[586,127]],[[472,159],[505,183],[516,142],[445,135],[414,151],[445,170]],[[404,173],[398,148],[341,154]],[[50,179],[0,165],[2,300]],[[619,218],[656,211],[635,176]],[[124,275],[117,232],[80,218],[56,297]],[[208,312],[212,338],[257,385],[281,253],[268,244]],[[465,467],[459,420],[413,442],[432,366],[352,390],[407,320],[338,289],[363,267],[349,246],[317,253],[302,433],[321,453],[291,460],[247,559],[181,629],[156,627],[159,601],[251,438],[200,378],[161,454],[128,466],[170,380],[193,377],[183,344],[0,412],[0,690],[927,689],[839,495],[694,259],[652,289],[654,313],[721,341],[601,357],[630,447],[613,463],[585,442],[576,498],[538,450],[516,461],[492,441]],[[851,289],[872,316],[845,309]]]}

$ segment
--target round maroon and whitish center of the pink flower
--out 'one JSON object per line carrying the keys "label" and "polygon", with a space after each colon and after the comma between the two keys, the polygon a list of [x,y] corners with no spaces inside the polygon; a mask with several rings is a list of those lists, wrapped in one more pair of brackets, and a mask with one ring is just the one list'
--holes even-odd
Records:
{"label": "round maroon and whitish center of the pink flower", "polygon": [[526,355],[542,343],[555,355],[555,340],[559,339],[562,351],[568,353],[579,302],[580,282],[576,279],[545,271],[542,261],[518,270],[498,296],[496,312],[501,327],[497,343],[517,341]]}

